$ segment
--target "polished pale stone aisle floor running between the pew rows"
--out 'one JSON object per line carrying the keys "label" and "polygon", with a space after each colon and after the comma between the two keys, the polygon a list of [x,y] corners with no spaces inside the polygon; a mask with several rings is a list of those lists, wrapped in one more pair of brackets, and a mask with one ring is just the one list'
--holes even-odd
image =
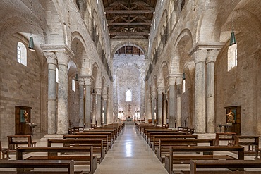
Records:
{"label": "polished pale stone aisle floor running between the pew rows", "polygon": [[134,124],[126,123],[123,132],[109,149],[95,174],[167,174],[152,149],[135,130]]}

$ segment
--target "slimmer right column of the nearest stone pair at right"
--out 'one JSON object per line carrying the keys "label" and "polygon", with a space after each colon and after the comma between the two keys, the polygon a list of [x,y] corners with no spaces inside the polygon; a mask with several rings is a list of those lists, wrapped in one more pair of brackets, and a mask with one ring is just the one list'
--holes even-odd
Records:
{"label": "slimmer right column of the nearest stone pair at right", "polygon": [[210,50],[207,53],[207,132],[215,132],[214,114],[214,63],[219,54],[218,50]]}

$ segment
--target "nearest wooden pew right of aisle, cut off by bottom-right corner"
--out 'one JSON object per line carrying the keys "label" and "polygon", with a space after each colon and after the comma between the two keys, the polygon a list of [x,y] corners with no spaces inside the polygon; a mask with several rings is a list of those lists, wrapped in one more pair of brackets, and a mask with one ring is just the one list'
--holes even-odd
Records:
{"label": "nearest wooden pew right of aisle, cut off by bottom-right corner", "polygon": [[[210,168],[209,171],[203,173],[218,173],[211,171],[211,168],[233,168],[233,169],[243,169],[243,168],[260,168],[261,173],[261,161],[259,160],[229,160],[229,161],[217,161],[217,160],[191,160],[190,161],[190,172],[189,174],[200,174],[201,171],[197,171],[197,168]],[[219,171],[219,173],[224,173],[224,171]],[[236,171],[232,173],[243,173],[241,171]],[[244,172],[245,173],[245,172]]]}

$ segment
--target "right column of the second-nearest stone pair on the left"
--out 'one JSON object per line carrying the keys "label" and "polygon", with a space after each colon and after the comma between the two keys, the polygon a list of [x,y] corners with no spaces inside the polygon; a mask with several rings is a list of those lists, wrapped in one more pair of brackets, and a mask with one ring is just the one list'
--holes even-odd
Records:
{"label": "right column of the second-nearest stone pair on the left", "polygon": [[90,86],[92,84],[91,77],[85,77],[85,126],[86,128],[90,128],[91,126],[91,89]]}

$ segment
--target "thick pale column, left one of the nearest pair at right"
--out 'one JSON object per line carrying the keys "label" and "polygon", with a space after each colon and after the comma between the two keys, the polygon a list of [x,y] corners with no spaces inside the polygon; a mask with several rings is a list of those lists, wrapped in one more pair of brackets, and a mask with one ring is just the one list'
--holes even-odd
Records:
{"label": "thick pale column, left one of the nearest pair at right", "polygon": [[205,94],[205,60],[207,49],[198,49],[193,53],[195,61],[195,132],[206,132],[206,94]]}

